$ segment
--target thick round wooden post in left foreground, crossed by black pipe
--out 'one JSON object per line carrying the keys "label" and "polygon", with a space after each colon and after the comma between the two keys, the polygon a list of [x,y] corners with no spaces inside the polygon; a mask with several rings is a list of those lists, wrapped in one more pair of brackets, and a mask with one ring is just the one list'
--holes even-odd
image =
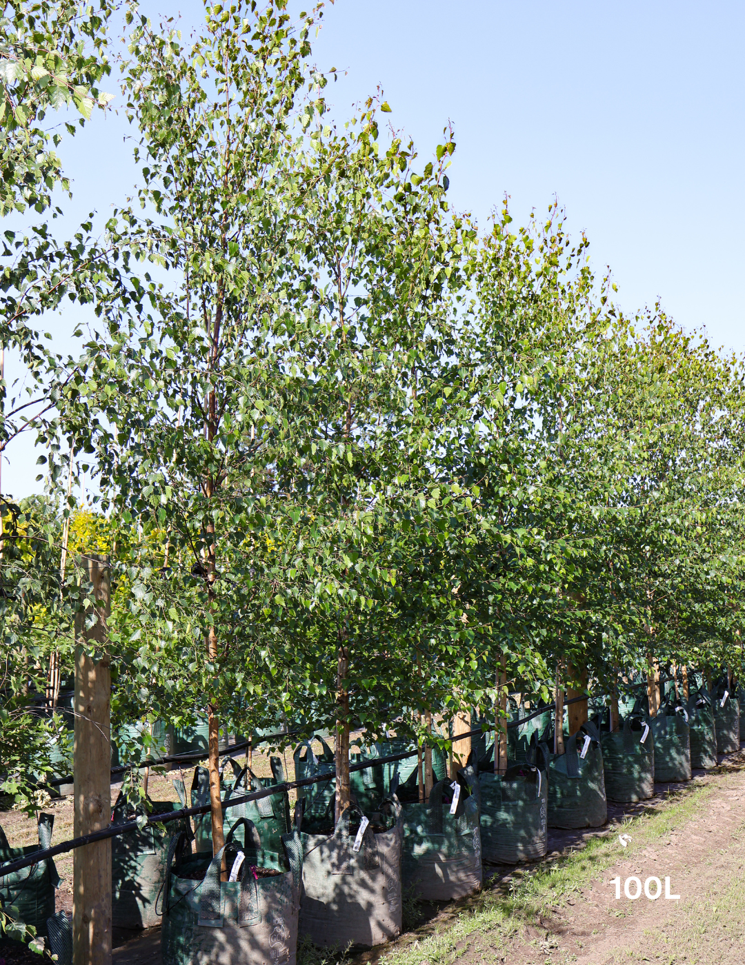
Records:
{"label": "thick round wooden post in left foreground, crossed by black pipe", "polygon": [[[111,666],[106,618],[111,594],[107,557],[78,564],[93,584],[97,622],[91,611],[75,618],[75,723],[73,836],[107,828],[111,821]],[[94,656],[85,648],[95,647]],[[72,852],[73,965],[111,965],[111,841]]]}

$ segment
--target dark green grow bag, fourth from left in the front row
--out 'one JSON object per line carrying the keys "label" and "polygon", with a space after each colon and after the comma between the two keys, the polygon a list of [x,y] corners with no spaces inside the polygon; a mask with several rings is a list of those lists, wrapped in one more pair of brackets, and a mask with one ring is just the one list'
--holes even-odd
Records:
{"label": "dark green grow bag, fourth from left in the front row", "polygon": [[515,865],[546,854],[548,762],[548,748],[542,744],[530,762],[513,764],[503,775],[479,775],[484,861]]}

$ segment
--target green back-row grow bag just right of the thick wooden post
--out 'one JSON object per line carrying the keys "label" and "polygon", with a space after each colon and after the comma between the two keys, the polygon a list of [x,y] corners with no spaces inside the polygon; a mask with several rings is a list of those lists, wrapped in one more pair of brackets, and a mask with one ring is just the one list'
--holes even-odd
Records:
{"label": "green back-row grow bag just right of the thick wooden post", "polygon": [[[151,801],[153,816],[186,807],[184,782],[174,781],[179,803]],[[137,809],[137,813],[144,813]],[[120,791],[111,820],[118,824],[132,820],[134,814]],[[120,928],[152,928],[160,924],[156,910],[158,895],[165,880],[168,845],[172,835],[184,831],[191,840],[188,819],[174,821],[168,831],[149,826],[130,831],[111,841],[111,923]]]}

